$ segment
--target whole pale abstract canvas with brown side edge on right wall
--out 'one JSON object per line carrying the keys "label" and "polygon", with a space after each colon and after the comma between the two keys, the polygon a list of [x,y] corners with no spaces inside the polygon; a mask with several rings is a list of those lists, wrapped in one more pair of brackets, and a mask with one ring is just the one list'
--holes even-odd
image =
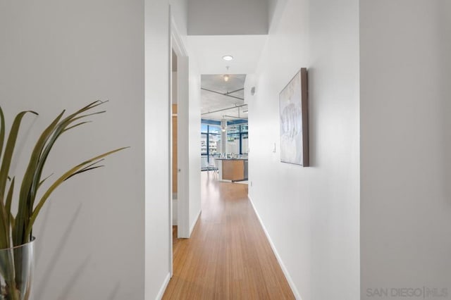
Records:
{"label": "whole pale abstract canvas with brown side edge on right wall", "polygon": [[309,166],[307,68],[280,92],[280,161]]}

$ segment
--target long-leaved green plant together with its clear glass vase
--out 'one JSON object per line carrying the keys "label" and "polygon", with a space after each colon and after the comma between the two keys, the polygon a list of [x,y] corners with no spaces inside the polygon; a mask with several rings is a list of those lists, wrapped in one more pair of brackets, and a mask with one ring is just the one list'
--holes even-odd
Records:
{"label": "long-leaved green plant together with its clear glass vase", "polygon": [[[6,137],[4,112],[0,107],[0,300],[26,300],[30,296],[35,240],[32,229],[39,211],[51,193],[75,175],[102,167],[99,163],[105,156],[125,149],[115,149],[83,161],[60,175],[47,189],[43,189],[42,184],[49,179],[42,176],[44,165],[58,137],[68,130],[89,123],[87,117],[104,113],[105,111],[91,112],[104,103],[92,102],[66,118],[63,118],[65,111],[60,113],[37,139],[21,182],[16,177],[10,177],[11,160],[23,117],[37,113],[23,111],[16,115]],[[18,185],[19,193],[14,194],[14,187]]]}

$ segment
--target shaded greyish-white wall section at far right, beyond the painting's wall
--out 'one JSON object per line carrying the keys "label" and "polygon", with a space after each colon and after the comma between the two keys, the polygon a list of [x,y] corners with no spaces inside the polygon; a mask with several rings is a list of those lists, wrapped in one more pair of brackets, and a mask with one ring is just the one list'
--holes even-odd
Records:
{"label": "shaded greyish-white wall section at far right, beyond the painting's wall", "polygon": [[450,299],[451,3],[360,2],[362,299]]}

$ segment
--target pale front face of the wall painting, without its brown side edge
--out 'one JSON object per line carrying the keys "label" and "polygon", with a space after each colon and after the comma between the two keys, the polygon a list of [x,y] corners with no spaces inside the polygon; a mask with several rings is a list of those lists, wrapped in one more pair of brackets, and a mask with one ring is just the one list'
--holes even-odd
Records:
{"label": "pale front face of the wall painting, without its brown side edge", "polygon": [[302,87],[297,73],[280,92],[280,161],[303,165]]}

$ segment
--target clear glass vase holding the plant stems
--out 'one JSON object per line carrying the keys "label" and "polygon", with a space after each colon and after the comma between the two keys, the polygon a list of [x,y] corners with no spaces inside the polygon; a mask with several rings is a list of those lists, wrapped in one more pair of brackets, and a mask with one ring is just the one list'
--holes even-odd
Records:
{"label": "clear glass vase holding the plant stems", "polygon": [[30,299],[34,244],[32,241],[8,249],[0,249],[0,300]]}

